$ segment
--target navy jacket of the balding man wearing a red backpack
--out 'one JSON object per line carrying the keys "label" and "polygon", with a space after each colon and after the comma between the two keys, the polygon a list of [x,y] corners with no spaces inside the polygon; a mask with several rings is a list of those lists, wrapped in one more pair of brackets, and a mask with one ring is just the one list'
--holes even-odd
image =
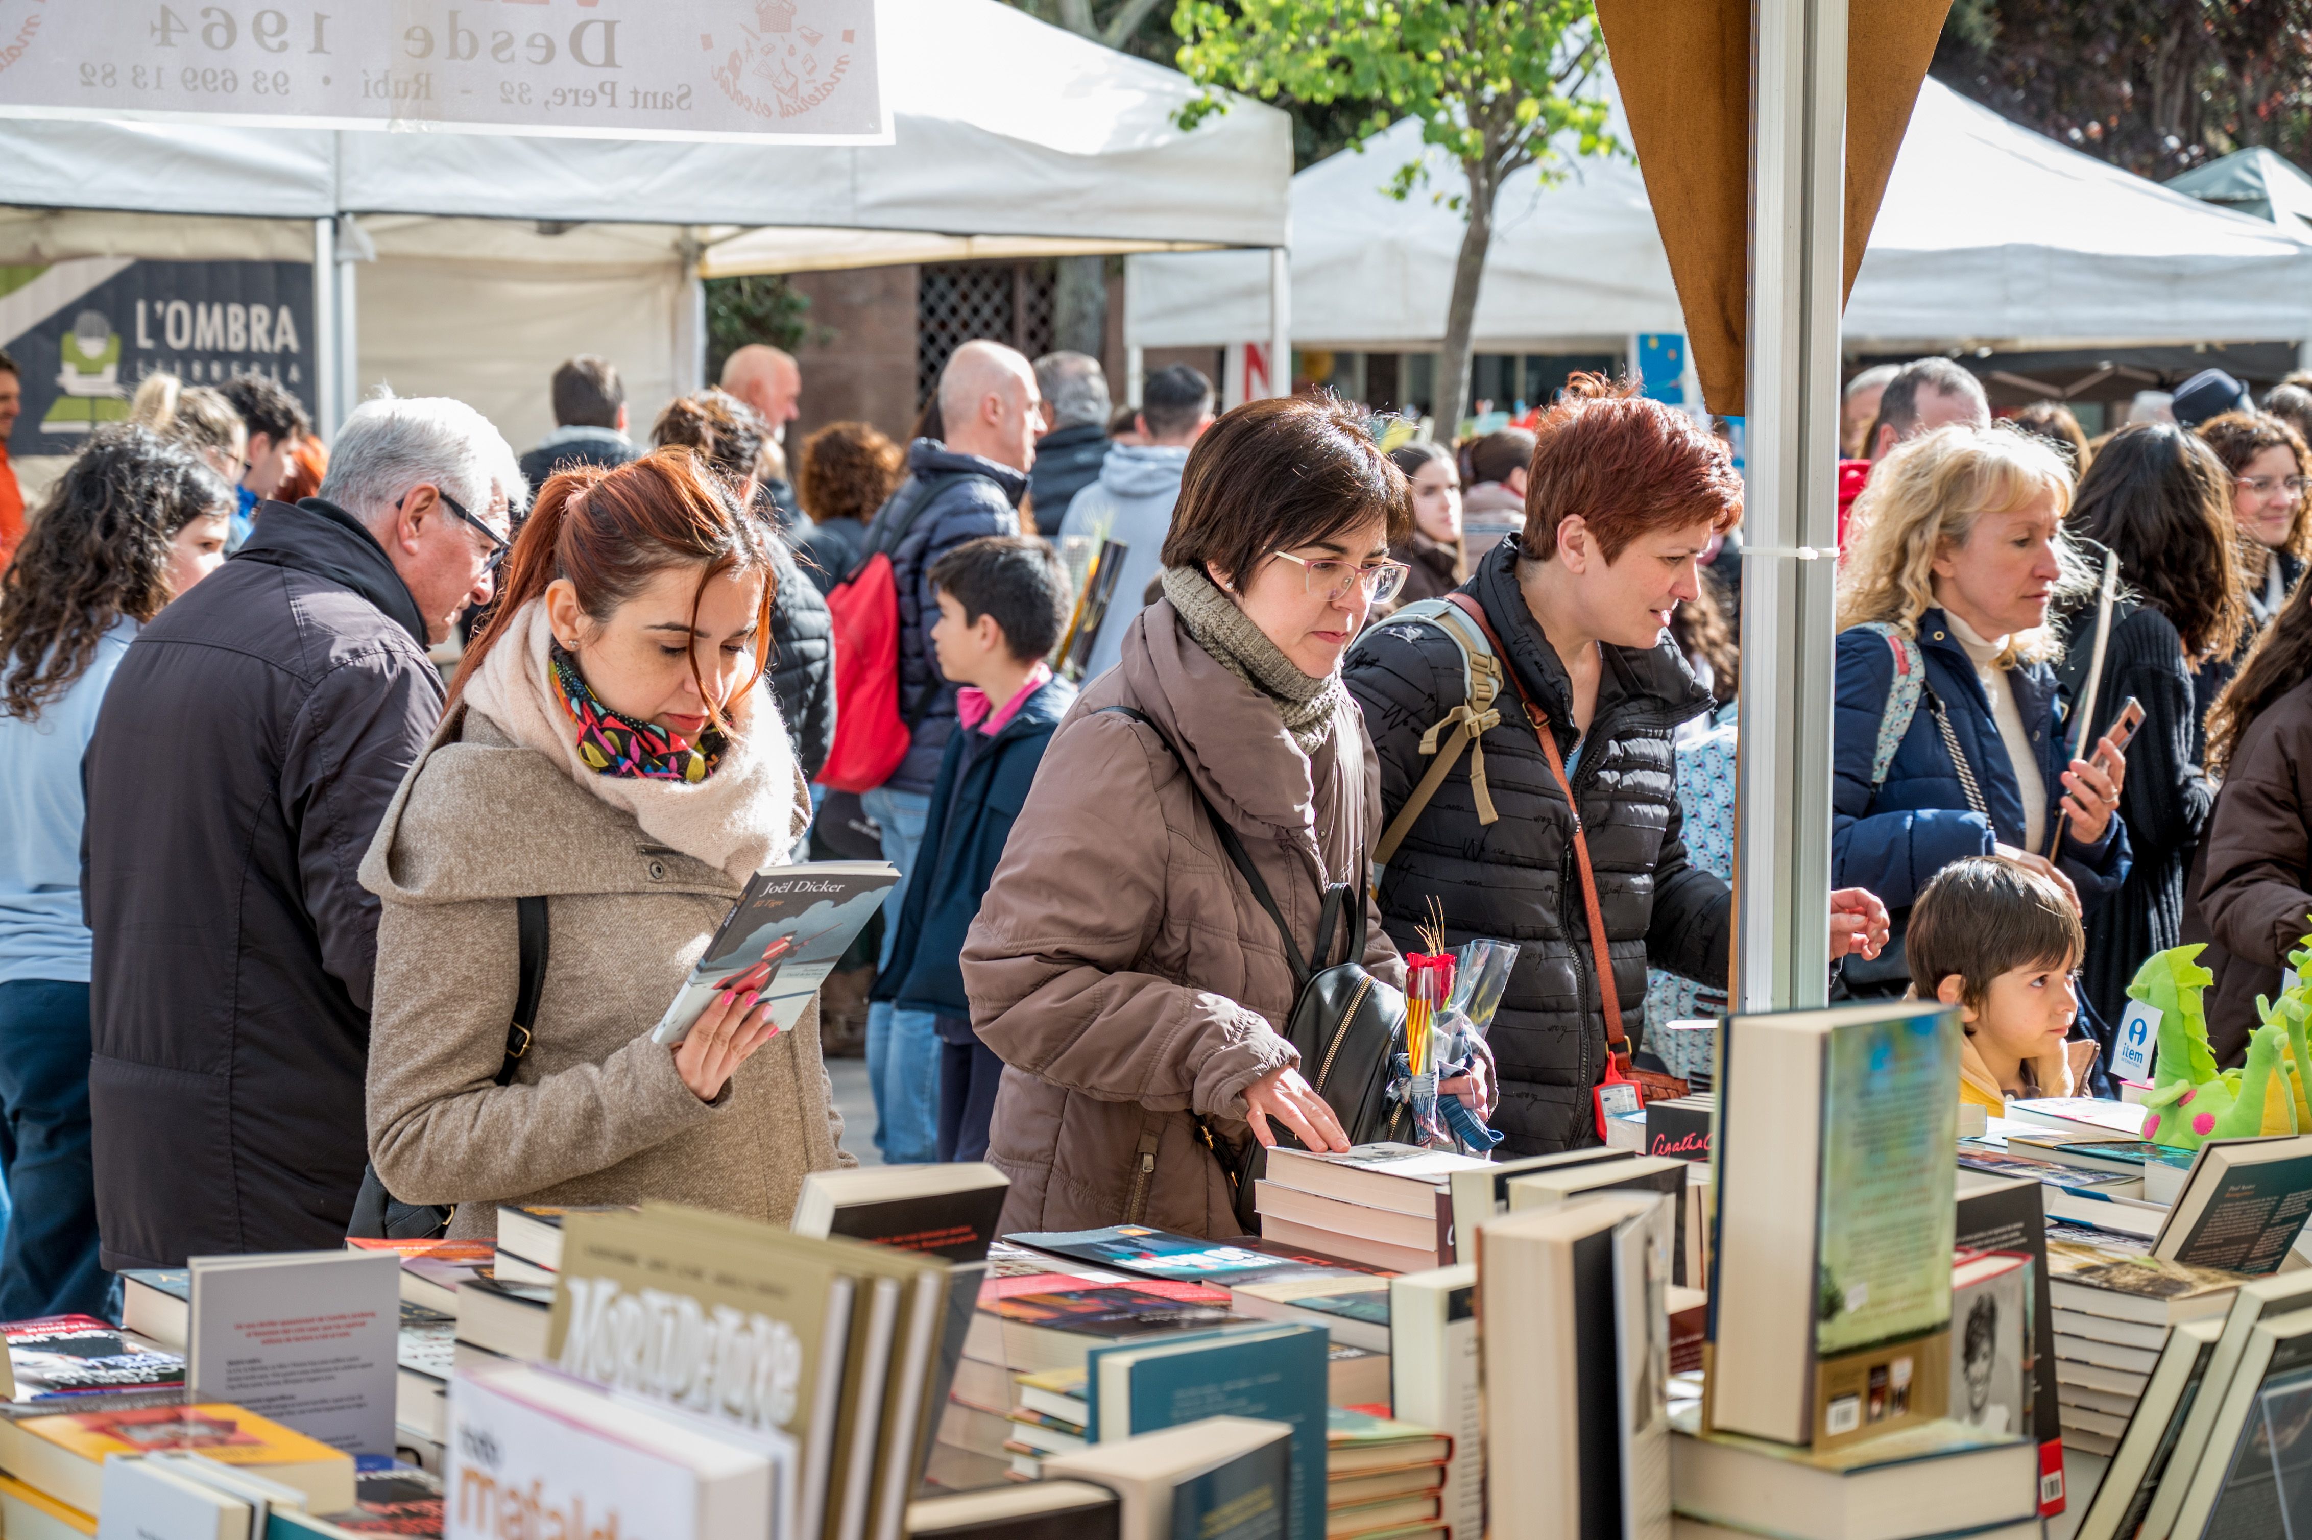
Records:
{"label": "navy jacket of the balding man wearing a red backpack", "polygon": [[909,444],[906,472],[909,479],[867,527],[869,539],[876,539],[879,525],[895,511],[913,506],[922,495],[918,483],[950,476],[890,553],[890,576],[899,587],[899,710],[916,724],[916,733],[888,786],[925,793],[939,779],[939,756],[955,733],[955,687],[939,678],[939,661],[932,657],[932,627],[939,624],[932,562],[983,534],[1020,534],[1027,472],[980,456],[959,456],[939,439]]}

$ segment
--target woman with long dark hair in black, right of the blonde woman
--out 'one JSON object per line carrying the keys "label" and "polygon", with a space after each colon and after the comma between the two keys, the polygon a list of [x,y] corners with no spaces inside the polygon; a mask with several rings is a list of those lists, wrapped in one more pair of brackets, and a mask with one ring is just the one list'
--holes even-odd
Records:
{"label": "woman with long dark hair in black, right of the blonde woman", "polygon": [[[2088,465],[2065,520],[2072,534],[2118,553],[2134,594],[2113,608],[2095,735],[2111,731],[2129,698],[2143,703],[2120,795],[2134,862],[2111,902],[2088,916],[2081,967],[2081,990],[2106,1029],[2127,1010],[2127,983],[2143,960],[2183,941],[2185,872],[2215,805],[2192,675],[2226,666],[2247,629],[2231,506],[2231,479],[2201,439],[2171,423],[2136,423]],[[2095,606],[2078,601],[2067,613],[2062,666],[2074,698],[2092,647]]]}

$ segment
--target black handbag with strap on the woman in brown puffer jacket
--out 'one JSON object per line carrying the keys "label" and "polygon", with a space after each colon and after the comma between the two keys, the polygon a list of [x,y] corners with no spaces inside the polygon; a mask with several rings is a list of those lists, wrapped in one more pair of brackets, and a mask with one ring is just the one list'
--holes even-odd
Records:
{"label": "black handbag with strap on the woman in brown puffer jacket", "polygon": [[[1131,717],[1140,726],[1156,733],[1156,742],[1172,752],[1172,758],[1181,761],[1186,770],[1186,758],[1165,738],[1165,731],[1147,719],[1147,715],[1128,705],[1103,708],[1119,717]],[[1285,925],[1283,911],[1276,906],[1276,897],[1269,886],[1260,879],[1260,869],[1244,849],[1244,839],[1237,830],[1228,825],[1205,798],[1205,788],[1188,777],[1188,788],[1195,800],[1205,805],[1205,816],[1211,821],[1214,832],[1221,837],[1221,849],[1228,853],[1228,865],[1237,867],[1244,886],[1251,888],[1253,902],[1260,904],[1267,916],[1276,923],[1276,939],[1283,943],[1285,967],[1292,969],[1292,1015],[1285,1022],[1285,1041],[1299,1054],[1302,1075],[1316,1087],[1325,1105],[1341,1121],[1341,1131],[1348,1135],[1350,1145],[1371,1145],[1387,1140],[1396,1133],[1403,1119],[1403,1108],[1390,1103],[1390,1057],[1406,1036],[1406,994],[1364,971],[1364,941],[1366,941],[1366,913],[1364,913],[1364,886],[1362,883],[1329,883],[1325,888],[1325,906],[1318,916],[1316,948],[1302,957],[1299,943],[1292,939],[1292,927]],[[1357,856],[1357,869],[1364,869],[1364,853]],[[1329,969],[1316,967],[1332,955],[1334,930],[1343,923],[1348,913],[1348,960],[1336,962]],[[1244,1149],[1232,1149],[1228,1140],[1218,1138],[1202,1117],[1198,1117],[1198,1128],[1202,1131],[1205,1145],[1211,1156],[1221,1163],[1228,1175],[1230,1189],[1235,1193],[1237,1223],[1246,1230],[1260,1230],[1260,1214],[1253,1207],[1260,1177],[1267,1172],[1267,1149],[1260,1140],[1246,1140]],[[1302,1140],[1272,1119],[1272,1131],[1276,1140],[1288,1149],[1302,1149]]]}

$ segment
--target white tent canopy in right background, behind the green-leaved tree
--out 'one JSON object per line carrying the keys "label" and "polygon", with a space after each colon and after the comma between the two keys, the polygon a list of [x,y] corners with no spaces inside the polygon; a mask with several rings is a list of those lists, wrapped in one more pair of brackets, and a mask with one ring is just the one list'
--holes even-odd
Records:
{"label": "white tent canopy in right background, behind the green-leaved tree", "polygon": [[[1383,183],[1415,150],[1420,125],[1399,123],[1292,178],[1295,342],[1438,347],[1461,220],[1429,194],[1466,183],[1427,150],[1429,192],[1390,199]],[[1133,347],[1267,335],[1258,254],[1133,257],[1126,273]],[[1637,166],[1584,160],[1554,187],[1521,173],[1500,194],[1480,351],[1581,351],[1637,331],[1683,331]],[[1850,349],[2287,338],[2312,338],[2312,245],[1926,81],[1845,310]]]}

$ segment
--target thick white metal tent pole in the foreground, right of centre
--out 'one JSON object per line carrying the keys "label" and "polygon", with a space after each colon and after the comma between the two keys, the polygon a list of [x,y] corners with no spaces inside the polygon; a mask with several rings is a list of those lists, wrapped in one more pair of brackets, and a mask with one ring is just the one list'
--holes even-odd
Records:
{"label": "thick white metal tent pole in the foreground, right of centre", "polygon": [[1829,992],[1847,0],[1757,0],[1750,69],[1734,1004],[1796,1010]]}

